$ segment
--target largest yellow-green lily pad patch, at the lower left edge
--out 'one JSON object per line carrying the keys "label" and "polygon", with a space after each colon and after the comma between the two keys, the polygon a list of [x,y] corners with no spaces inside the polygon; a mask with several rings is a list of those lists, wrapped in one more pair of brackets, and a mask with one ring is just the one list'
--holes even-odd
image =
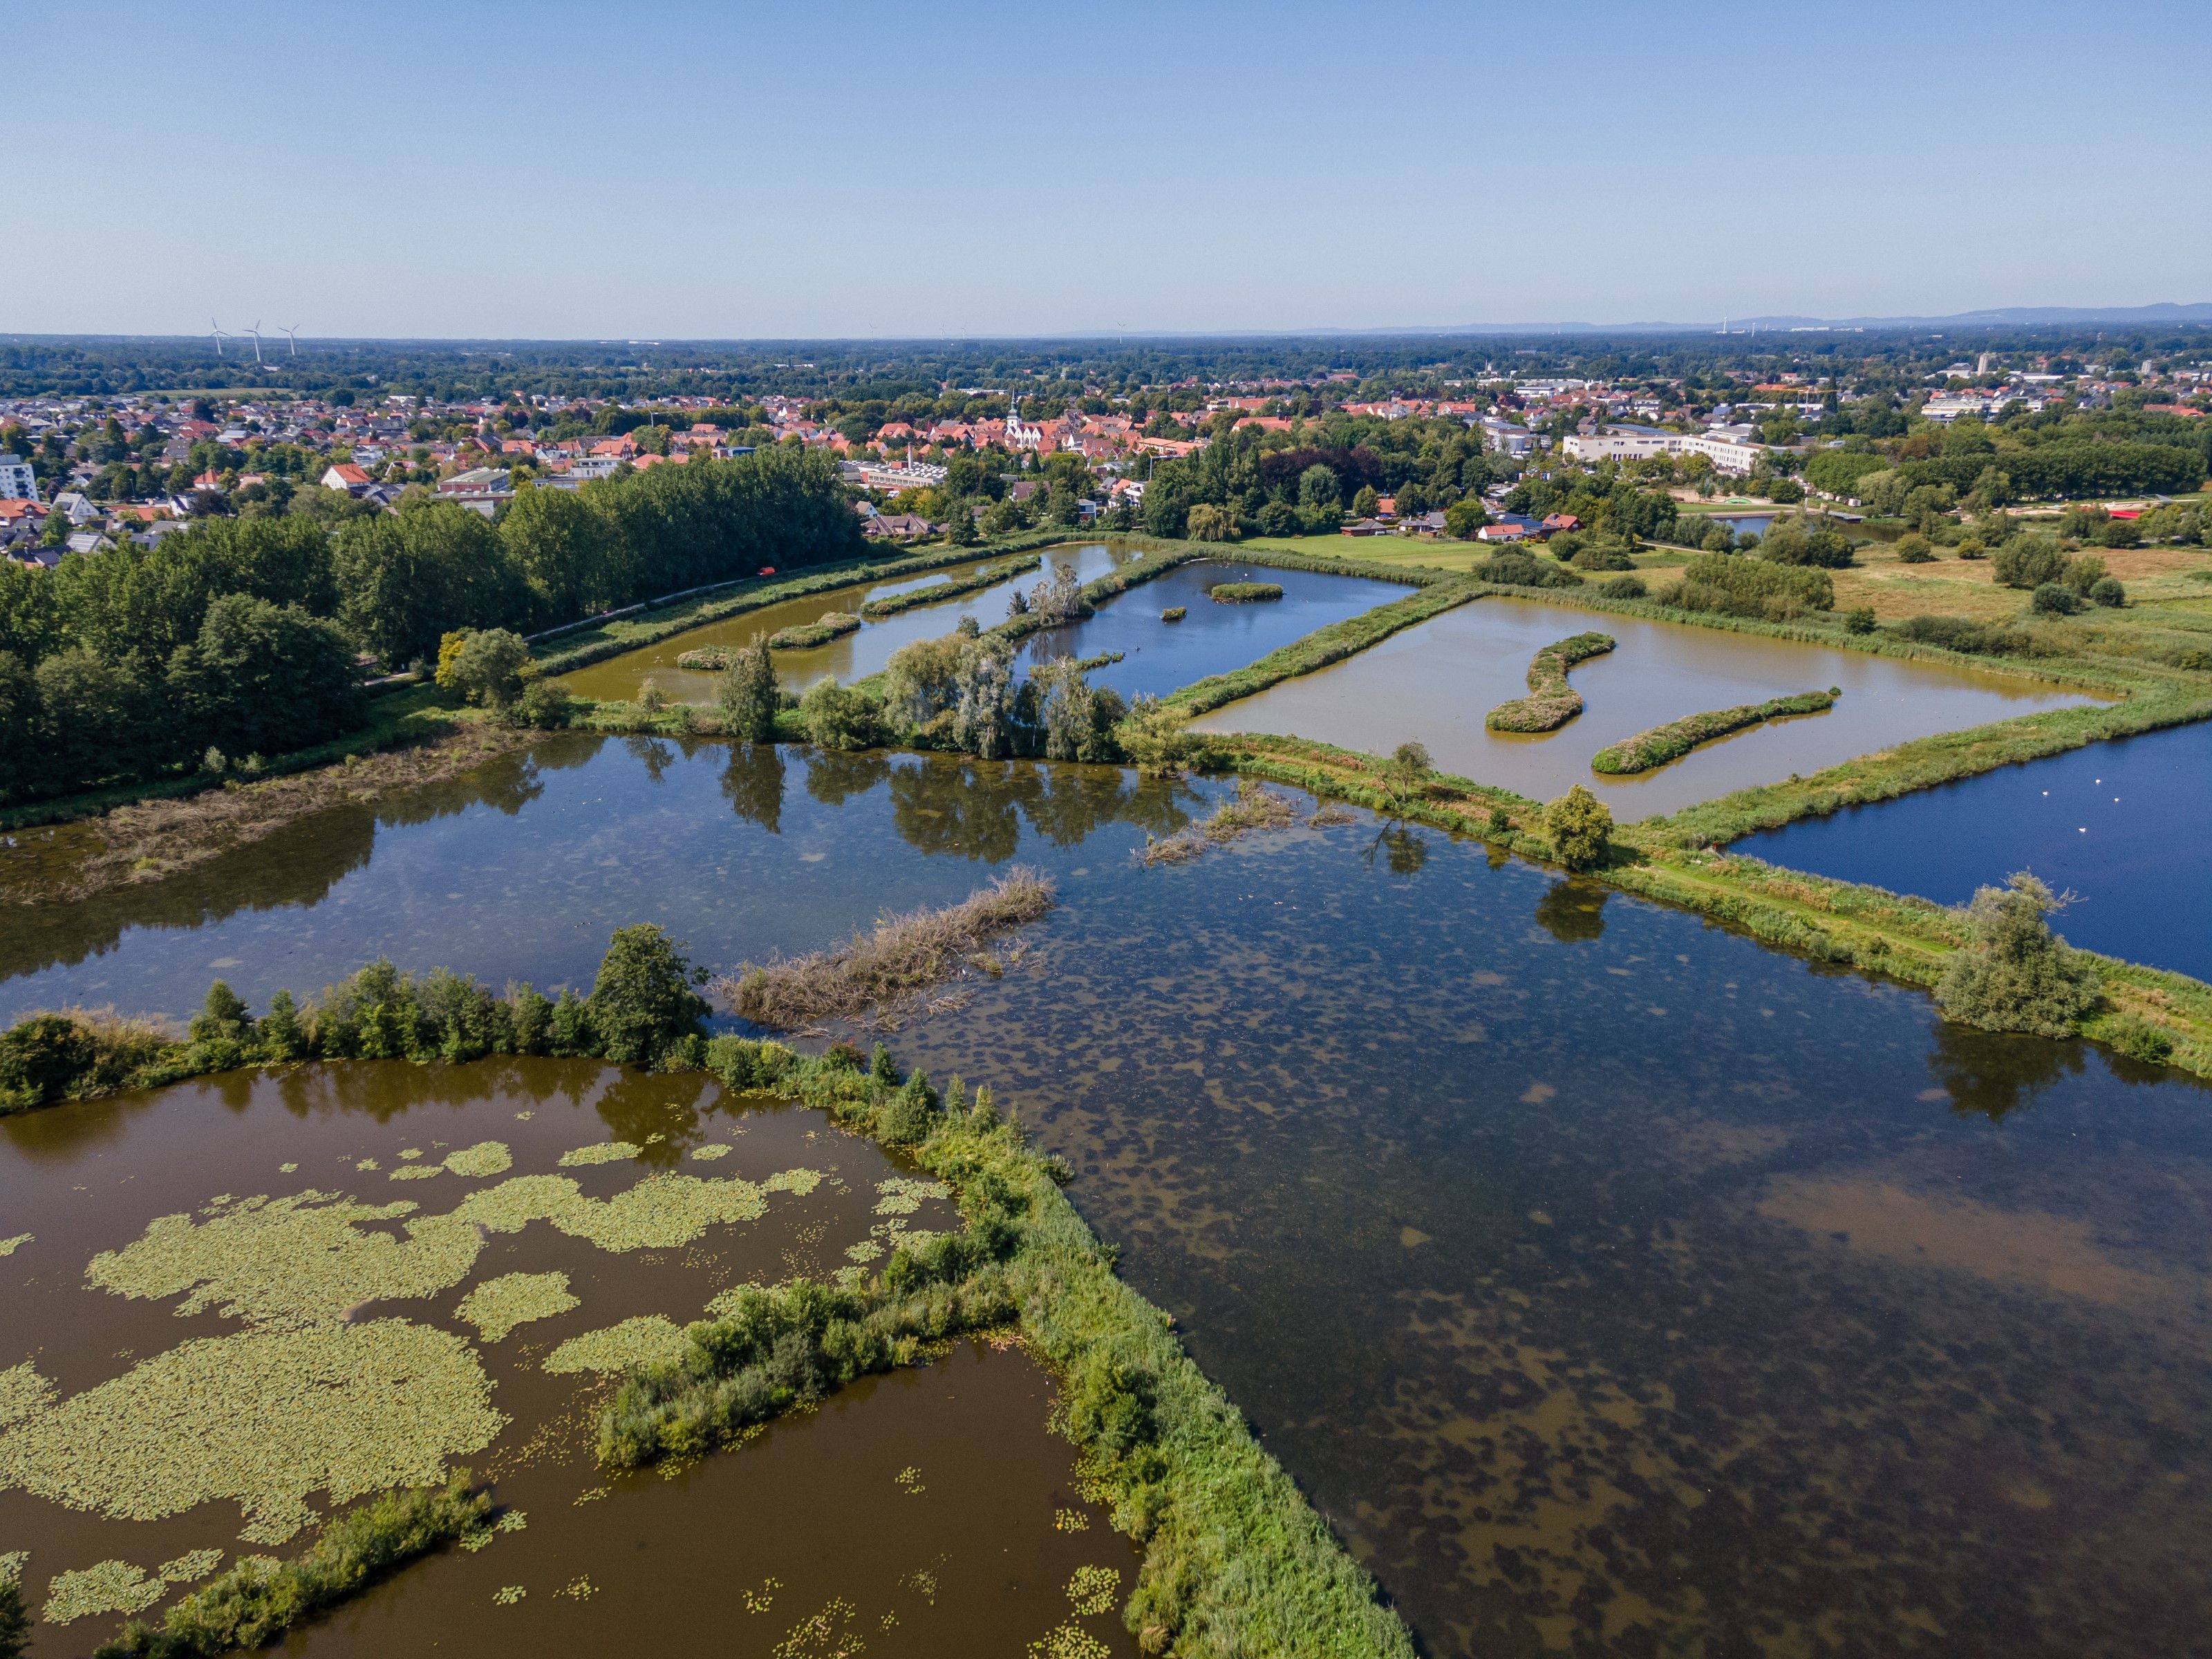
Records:
{"label": "largest yellow-green lily pad patch, at the lower left edge", "polygon": [[276,1544],[345,1502],[434,1482],[507,1418],[458,1336],[400,1318],[184,1343],[0,1431],[0,1484],[115,1520],[234,1500]]}

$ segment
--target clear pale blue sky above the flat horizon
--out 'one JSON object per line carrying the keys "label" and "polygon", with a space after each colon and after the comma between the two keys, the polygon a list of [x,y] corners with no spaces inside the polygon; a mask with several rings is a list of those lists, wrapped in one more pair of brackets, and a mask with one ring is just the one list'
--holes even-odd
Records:
{"label": "clear pale blue sky above the flat horizon", "polygon": [[0,332],[2212,299],[2212,7],[29,4]]}

